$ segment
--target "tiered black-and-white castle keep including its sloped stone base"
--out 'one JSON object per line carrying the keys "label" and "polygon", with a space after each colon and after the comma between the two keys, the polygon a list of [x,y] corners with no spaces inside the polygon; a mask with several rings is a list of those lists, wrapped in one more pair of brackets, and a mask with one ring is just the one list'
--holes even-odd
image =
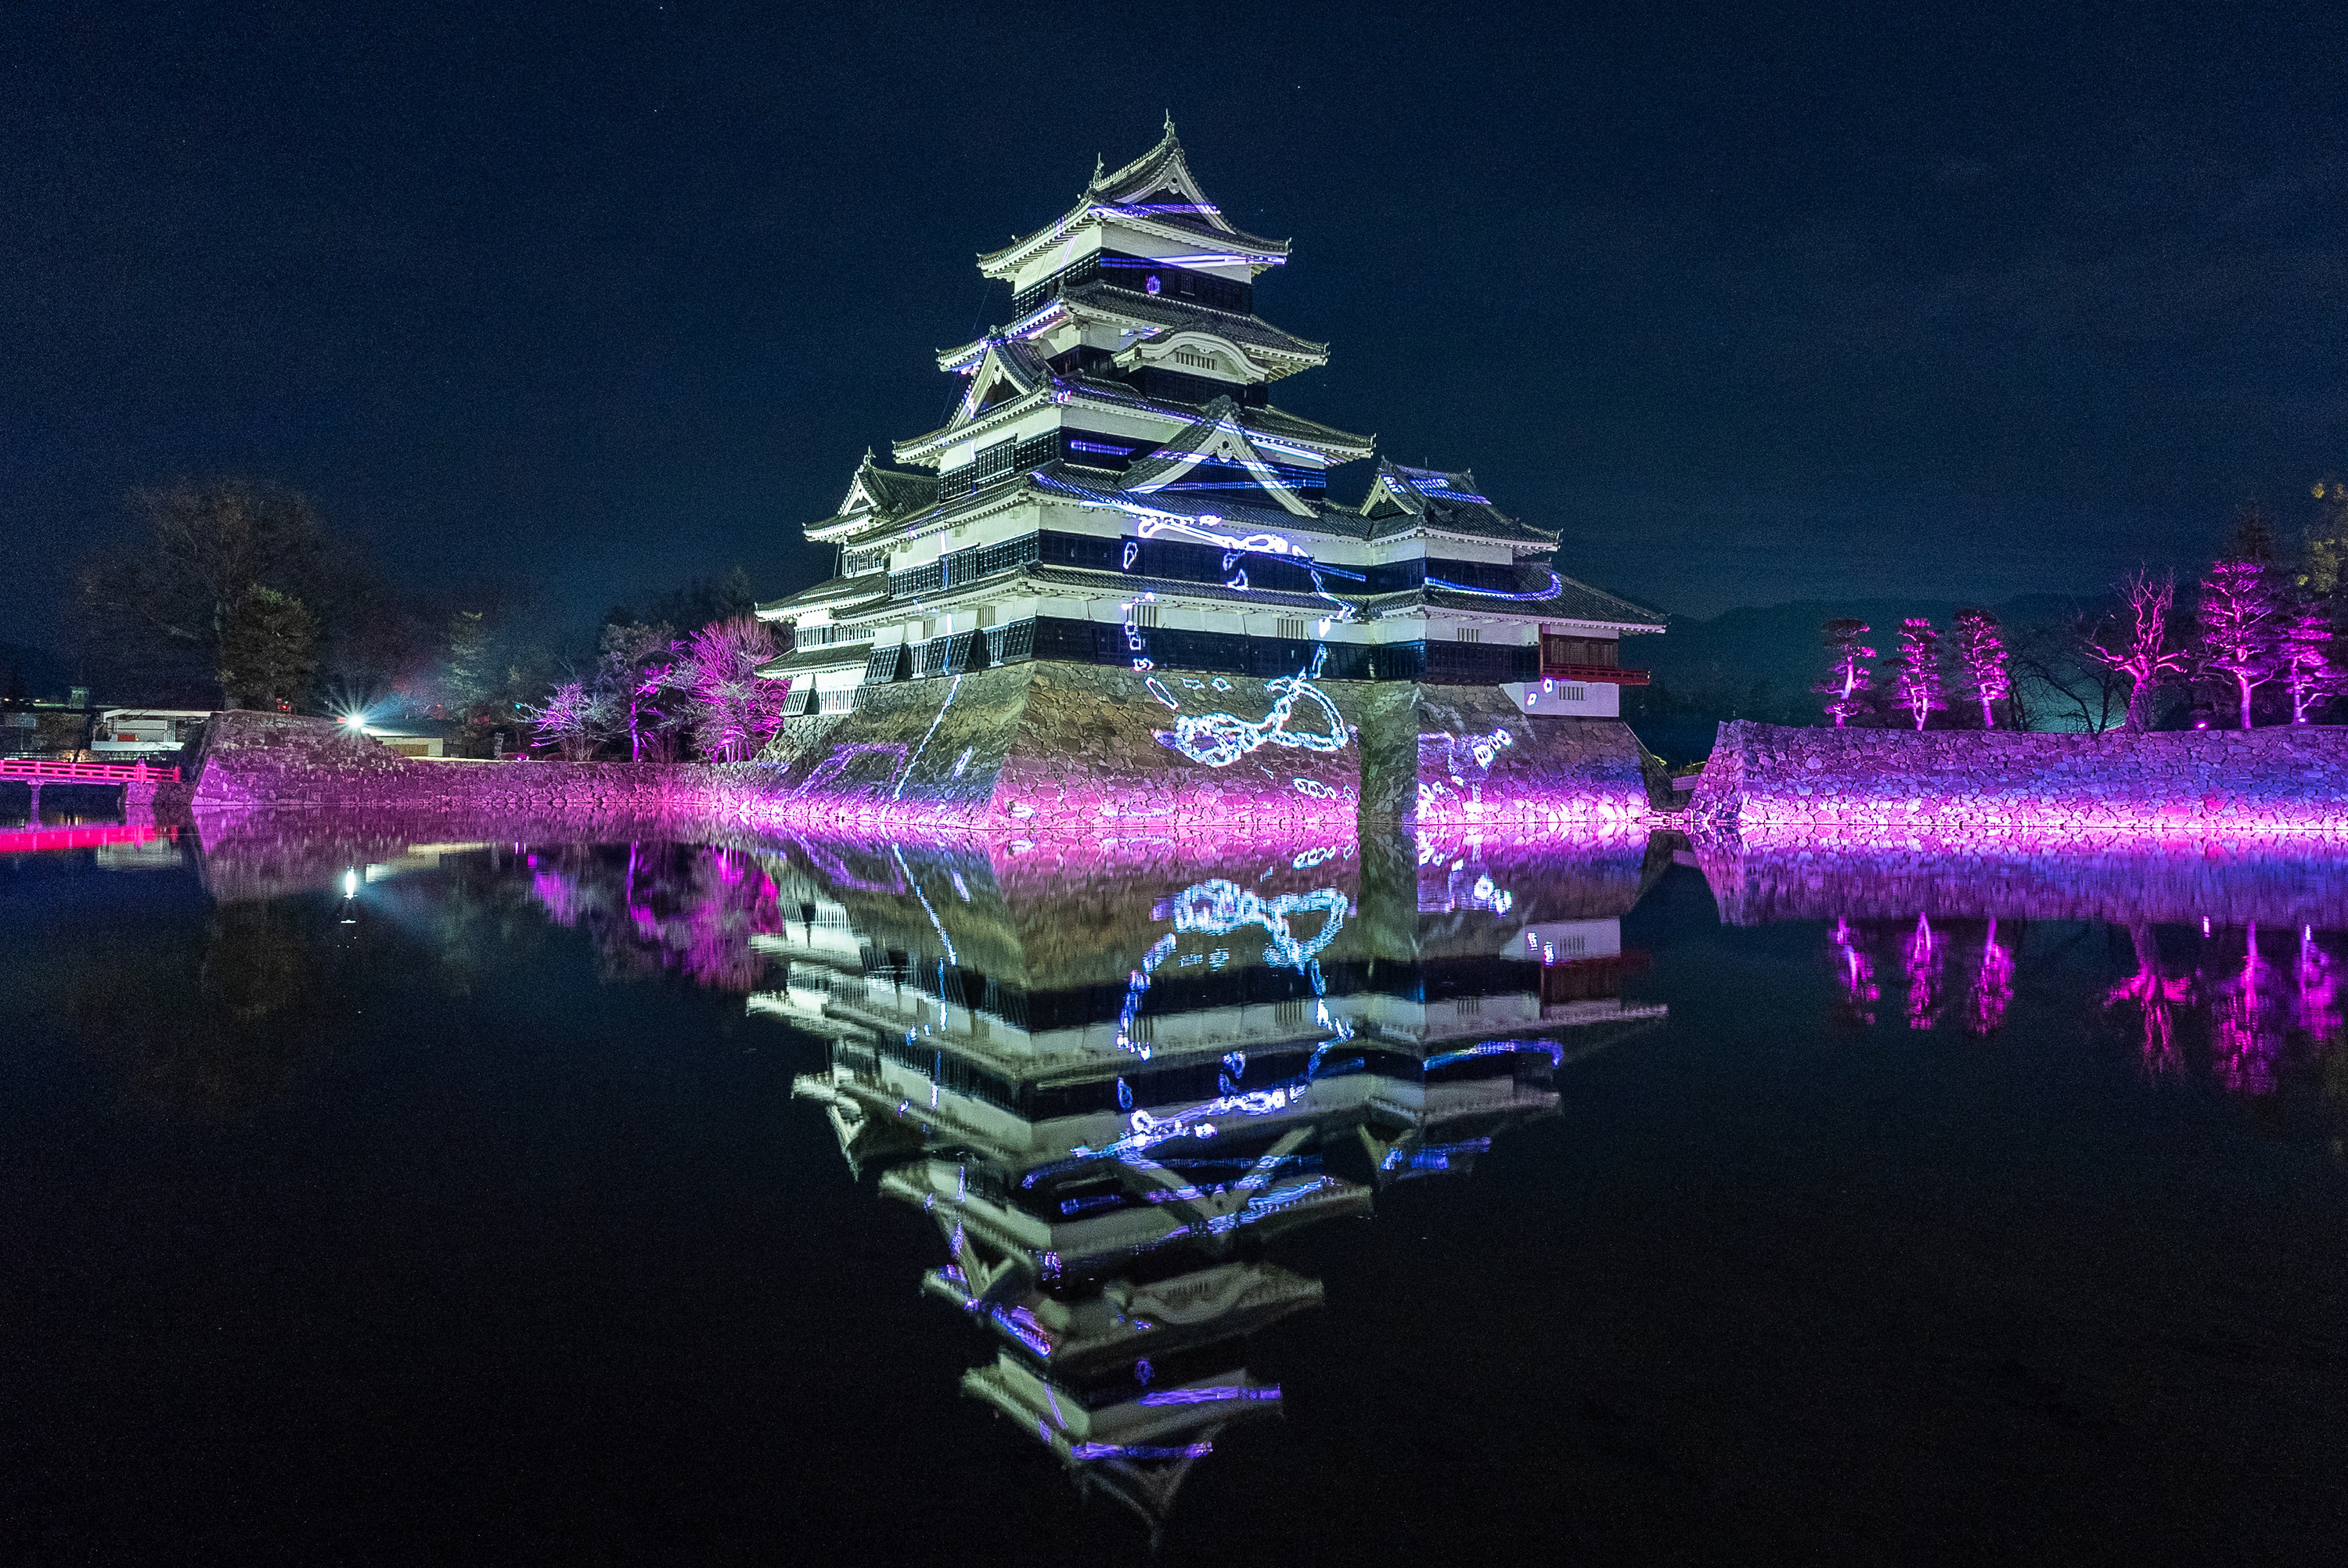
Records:
{"label": "tiered black-and-white castle keep including its sloped stone base", "polygon": [[[1644,807],[1620,638],[1472,472],[1273,404],[1322,343],[1256,315],[1287,242],[1207,200],[1174,127],[979,258],[1012,322],[939,354],[942,430],[866,453],[765,603],[768,761],[805,805],[953,822],[1587,819]],[[1357,505],[1331,467],[1374,460]]]}

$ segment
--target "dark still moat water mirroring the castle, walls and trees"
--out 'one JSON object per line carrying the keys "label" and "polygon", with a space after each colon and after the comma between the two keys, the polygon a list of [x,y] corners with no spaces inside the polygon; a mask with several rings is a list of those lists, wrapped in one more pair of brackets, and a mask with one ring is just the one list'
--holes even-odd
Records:
{"label": "dark still moat water mirroring the castle, walls and trees", "polygon": [[2339,847],[578,838],[0,857],[9,1559],[2332,1545]]}

